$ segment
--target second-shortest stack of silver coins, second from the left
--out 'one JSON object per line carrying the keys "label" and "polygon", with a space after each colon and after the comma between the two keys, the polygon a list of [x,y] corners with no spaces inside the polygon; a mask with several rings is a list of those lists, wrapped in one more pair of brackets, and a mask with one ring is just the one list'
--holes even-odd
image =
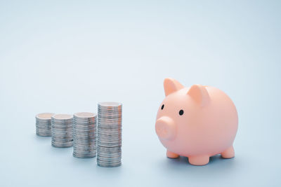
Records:
{"label": "second-shortest stack of silver coins, second from the left", "polygon": [[52,116],[52,146],[71,147],[73,144],[73,116],[55,114]]}

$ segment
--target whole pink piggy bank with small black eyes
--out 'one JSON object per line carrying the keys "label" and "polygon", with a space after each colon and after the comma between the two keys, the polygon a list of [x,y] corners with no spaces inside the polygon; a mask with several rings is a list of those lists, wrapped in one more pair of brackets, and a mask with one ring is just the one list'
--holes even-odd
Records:
{"label": "whole pink piggy bank with small black eyes", "polygon": [[155,130],[168,158],[182,155],[191,165],[207,165],[213,155],[234,157],[238,117],[226,93],[209,85],[185,88],[173,78],[164,80],[164,91]]}

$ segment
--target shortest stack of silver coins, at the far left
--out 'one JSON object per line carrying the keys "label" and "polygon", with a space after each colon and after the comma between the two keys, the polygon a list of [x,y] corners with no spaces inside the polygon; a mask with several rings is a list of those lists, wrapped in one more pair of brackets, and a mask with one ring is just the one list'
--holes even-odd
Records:
{"label": "shortest stack of silver coins, at the far left", "polygon": [[54,113],[39,113],[36,118],[36,134],[41,137],[51,137],[51,116]]}

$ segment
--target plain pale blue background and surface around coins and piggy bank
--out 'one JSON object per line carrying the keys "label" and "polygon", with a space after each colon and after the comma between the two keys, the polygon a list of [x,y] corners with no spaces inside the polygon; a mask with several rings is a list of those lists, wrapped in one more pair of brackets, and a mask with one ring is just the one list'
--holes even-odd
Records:
{"label": "plain pale blue background and surface around coins and piggy bank", "polygon": [[[280,186],[280,1],[1,1],[0,186]],[[163,80],[237,106],[235,158],[189,165],[155,134]],[[124,104],[122,167],[35,135],[37,113]]]}

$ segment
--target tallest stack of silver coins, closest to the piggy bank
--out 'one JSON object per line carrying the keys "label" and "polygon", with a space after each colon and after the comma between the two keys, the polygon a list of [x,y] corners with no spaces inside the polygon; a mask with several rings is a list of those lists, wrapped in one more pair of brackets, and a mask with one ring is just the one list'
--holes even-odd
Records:
{"label": "tallest stack of silver coins, closest to the piggy bank", "polygon": [[98,165],[101,167],[121,165],[121,146],[122,104],[98,103]]}

